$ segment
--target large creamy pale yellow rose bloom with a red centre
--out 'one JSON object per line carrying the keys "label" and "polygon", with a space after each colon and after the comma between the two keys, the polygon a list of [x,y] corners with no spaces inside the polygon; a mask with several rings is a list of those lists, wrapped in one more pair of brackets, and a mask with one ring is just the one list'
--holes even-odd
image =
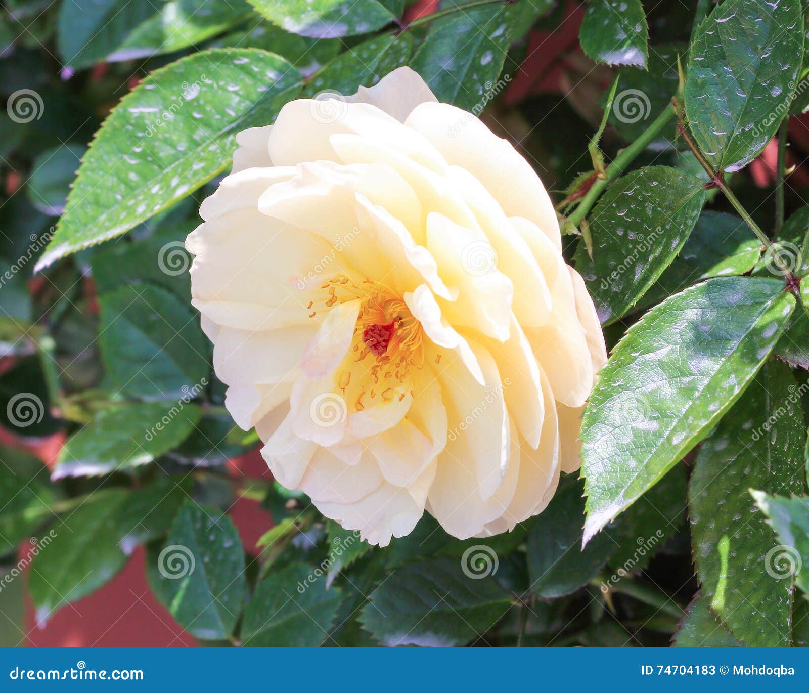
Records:
{"label": "large creamy pale yellow rose bloom with a red centre", "polygon": [[192,302],[275,478],[380,546],[541,512],[606,352],[527,161],[409,68],[237,142]]}

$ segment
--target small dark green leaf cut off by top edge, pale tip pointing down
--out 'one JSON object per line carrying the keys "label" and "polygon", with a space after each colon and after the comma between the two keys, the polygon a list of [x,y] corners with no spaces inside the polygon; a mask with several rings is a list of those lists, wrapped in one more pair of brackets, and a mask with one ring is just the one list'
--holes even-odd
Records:
{"label": "small dark green leaf cut off by top edge, pale tip pointing down", "polygon": [[649,28],[641,0],[590,0],[578,40],[596,62],[646,67]]}

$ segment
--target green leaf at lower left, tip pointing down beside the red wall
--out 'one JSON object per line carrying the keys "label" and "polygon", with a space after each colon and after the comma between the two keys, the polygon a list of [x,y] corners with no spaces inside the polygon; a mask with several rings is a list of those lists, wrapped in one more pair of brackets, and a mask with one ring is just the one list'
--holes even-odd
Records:
{"label": "green leaf at lower left, tip pointing down beside the red wall", "polygon": [[40,625],[53,611],[99,589],[123,568],[126,555],[118,546],[116,513],[128,498],[120,489],[99,491],[40,538],[28,576]]}

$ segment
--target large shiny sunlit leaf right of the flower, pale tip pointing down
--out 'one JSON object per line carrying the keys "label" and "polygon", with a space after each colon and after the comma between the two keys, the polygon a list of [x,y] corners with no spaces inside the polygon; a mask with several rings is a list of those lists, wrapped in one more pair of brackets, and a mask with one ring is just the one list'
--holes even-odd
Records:
{"label": "large shiny sunlit leaf right of the flower, pale tip pointing down", "polygon": [[776,279],[723,277],[671,296],[629,329],[599,373],[582,419],[585,542],[733,405],[793,308]]}

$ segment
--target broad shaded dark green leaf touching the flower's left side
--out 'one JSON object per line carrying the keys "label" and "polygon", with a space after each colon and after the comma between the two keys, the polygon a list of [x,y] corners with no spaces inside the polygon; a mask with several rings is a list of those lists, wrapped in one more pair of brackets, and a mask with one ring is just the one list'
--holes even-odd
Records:
{"label": "broad shaded dark green leaf touching the flower's left side", "polygon": [[193,399],[208,383],[210,345],[199,317],[159,287],[132,285],[99,297],[106,385],[145,399]]}

